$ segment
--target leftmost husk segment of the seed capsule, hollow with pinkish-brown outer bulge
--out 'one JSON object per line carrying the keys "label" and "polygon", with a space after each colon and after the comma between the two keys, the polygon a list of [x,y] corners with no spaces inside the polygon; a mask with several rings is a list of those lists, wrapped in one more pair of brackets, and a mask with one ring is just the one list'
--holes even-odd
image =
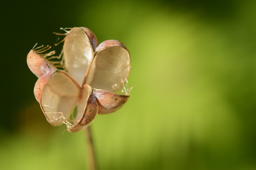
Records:
{"label": "leftmost husk segment of the seed capsule, hollow with pinkish-brown outer bulge", "polygon": [[34,51],[28,53],[27,63],[39,77],[34,86],[34,95],[47,121],[53,126],[67,123],[79,100],[79,85],[68,73],[54,68]]}

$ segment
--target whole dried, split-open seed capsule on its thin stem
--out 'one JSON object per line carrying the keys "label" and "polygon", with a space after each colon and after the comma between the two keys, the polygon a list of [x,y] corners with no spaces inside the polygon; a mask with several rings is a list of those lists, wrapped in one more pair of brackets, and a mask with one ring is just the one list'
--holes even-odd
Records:
{"label": "whole dried, split-open seed capsule on its thin stem", "polygon": [[[112,113],[129,98],[130,54],[116,40],[98,45],[88,28],[63,30],[56,33],[65,35],[58,43],[63,42],[60,55],[55,56],[49,45],[35,45],[28,53],[28,67],[38,77],[34,95],[51,125],[65,124],[72,133],[86,129],[90,138],[89,125],[97,113]],[[93,157],[92,143],[90,147]],[[91,164],[90,169],[96,169],[94,160]]]}

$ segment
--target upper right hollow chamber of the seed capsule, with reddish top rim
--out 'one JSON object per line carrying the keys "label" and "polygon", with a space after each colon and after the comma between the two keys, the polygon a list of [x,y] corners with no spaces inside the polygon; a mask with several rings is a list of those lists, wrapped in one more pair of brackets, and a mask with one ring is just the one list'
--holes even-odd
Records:
{"label": "upper right hollow chamber of the seed capsule, with reddish top rim", "polygon": [[[122,88],[122,82],[130,73],[130,54],[117,40],[107,40],[96,48],[86,84],[109,92]],[[113,88],[114,87],[114,88]]]}

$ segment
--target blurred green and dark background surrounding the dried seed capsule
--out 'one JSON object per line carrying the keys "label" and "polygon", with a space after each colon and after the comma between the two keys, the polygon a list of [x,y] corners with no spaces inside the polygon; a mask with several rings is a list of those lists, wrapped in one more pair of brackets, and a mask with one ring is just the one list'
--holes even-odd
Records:
{"label": "blurred green and dark background surrounding the dried seed capsule", "polygon": [[83,170],[84,133],[45,119],[26,64],[60,27],[130,51],[120,110],[92,124],[100,170],[256,170],[256,1],[20,1],[1,14],[0,167]]}

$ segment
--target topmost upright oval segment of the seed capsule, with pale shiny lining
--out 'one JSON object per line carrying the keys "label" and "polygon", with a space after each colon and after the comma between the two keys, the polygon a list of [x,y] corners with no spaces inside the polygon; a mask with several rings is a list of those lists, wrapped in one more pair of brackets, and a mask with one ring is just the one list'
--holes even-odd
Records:
{"label": "topmost upright oval segment of the seed capsule, with pale shiny lining", "polygon": [[63,45],[65,68],[80,86],[94,57],[97,44],[94,33],[84,27],[72,28],[65,37]]}

